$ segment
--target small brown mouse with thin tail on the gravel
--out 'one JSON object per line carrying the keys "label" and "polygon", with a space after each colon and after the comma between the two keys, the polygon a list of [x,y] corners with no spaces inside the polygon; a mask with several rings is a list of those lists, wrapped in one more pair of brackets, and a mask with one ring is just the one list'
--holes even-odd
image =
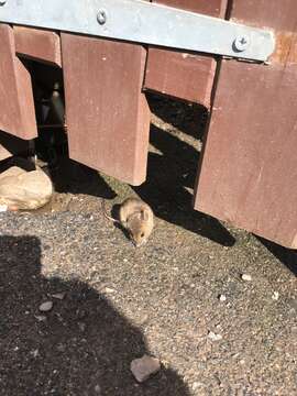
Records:
{"label": "small brown mouse with thin tail on the gravel", "polygon": [[154,228],[154,213],[150,206],[139,198],[128,198],[119,209],[119,220],[108,216],[102,200],[102,210],[107,219],[121,224],[133,244],[139,248],[147,242]]}

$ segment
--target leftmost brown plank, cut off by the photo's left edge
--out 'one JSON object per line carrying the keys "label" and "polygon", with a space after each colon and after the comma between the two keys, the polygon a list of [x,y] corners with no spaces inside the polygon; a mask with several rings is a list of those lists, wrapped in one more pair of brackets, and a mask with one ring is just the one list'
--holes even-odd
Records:
{"label": "leftmost brown plank, cut off by the photo's left edge", "polygon": [[12,28],[0,24],[0,130],[22,139],[37,135],[31,77],[15,55]]}

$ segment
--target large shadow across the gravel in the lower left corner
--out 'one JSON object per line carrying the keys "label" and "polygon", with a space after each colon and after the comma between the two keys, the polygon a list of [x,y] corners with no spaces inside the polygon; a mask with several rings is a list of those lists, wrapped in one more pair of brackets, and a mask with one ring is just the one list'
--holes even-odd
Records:
{"label": "large shadow across the gravel in the lower left corner", "polygon": [[189,395],[164,367],[138,384],[130,363],[150,353],[141,329],[87,284],[45,278],[42,254],[37,238],[0,237],[0,395]]}

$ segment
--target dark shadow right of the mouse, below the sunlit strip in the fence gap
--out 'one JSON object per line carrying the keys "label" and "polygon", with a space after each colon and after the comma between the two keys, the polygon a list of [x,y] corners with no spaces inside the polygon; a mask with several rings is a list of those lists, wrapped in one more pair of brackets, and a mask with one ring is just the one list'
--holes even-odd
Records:
{"label": "dark shadow right of the mouse, below the sunlit strip in the fence gap", "polygon": [[135,193],[161,219],[232,246],[235,239],[218,220],[193,209],[193,194],[186,187],[195,184],[199,153],[154,125],[151,128],[151,143],[163,155],[150,153],[146,183],[133,187]]}

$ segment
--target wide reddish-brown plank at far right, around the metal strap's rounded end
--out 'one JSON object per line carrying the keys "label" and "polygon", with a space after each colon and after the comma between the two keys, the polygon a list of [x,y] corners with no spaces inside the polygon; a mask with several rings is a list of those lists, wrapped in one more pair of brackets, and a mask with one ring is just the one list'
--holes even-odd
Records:
{"label": "wide reddish-brown plank at far right, around the metal strap's rounded end", "polygon": [[[195,208],[297,249],[295,1],[233,1],[232,18],[278,36],[270,66],[223,61]],[[246,18],[245,18],[246,15]],[[284,44],[284,38],[285,40]]]}

